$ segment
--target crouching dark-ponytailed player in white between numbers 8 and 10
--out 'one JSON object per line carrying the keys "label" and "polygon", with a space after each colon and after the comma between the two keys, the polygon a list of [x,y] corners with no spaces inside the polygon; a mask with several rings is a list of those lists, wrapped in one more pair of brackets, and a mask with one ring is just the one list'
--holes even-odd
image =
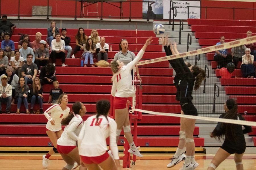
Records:
{"label": "crouching dark-ponytailed player in white between numbers 8 and 10", "polygon": [[[80,165],[80,157],[76,143],[84,123],[82,117],[86,113],[86,108],[81,102],[76,102],[72,106],[72,111],[73,114],[69,114],[69,116],[62,120],[62,124],[66,127],[61,137],[57,140],[57,150],[67,163],[63,168],[65,170],[73,169],[75,162]],[[86,168],[80,167],[79,169],[82,170]]]}

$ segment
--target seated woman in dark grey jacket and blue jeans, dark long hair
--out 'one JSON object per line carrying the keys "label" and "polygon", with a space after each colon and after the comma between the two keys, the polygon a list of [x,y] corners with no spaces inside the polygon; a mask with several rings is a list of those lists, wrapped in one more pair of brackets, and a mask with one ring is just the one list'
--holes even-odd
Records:
{"label": "seated woman in dark grey jacket and blue jeans, dark long hair", "polygon": [[30,114],[28,111],[28,91],[29,88],[25,84],[25,79],[20,77],[18,84],[15,86],[15,102],[17,103],[17,111],[16,114],[20,114],[20,106],[23,101],[24,106],[26,108],[26,114]]}

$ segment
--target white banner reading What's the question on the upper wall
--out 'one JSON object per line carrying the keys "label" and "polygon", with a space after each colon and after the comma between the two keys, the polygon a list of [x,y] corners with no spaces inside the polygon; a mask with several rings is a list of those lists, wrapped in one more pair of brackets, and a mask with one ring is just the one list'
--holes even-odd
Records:
{"label": "white banner reading What's the question on the upper wall", "polygon": [[[201,18],[200,12],[200,1],[173,1],[174,7],[177,9],[177,16],[174,16],[176,20],[186,20],[187,19],[187,6],[189,7],[189,18]],[[192,7],[193,6],[193,7]],[[164,19],[169,19],[170,15],[170,1],[164,1]],[[171,19],[172,19],[171,10]],[[175,12],[175,10],[174,10]]]}

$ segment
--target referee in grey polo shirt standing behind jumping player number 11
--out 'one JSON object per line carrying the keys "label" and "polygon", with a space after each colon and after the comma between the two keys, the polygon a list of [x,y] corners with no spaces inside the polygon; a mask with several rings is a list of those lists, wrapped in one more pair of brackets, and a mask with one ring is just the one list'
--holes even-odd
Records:
{"label": "referee in grey polo shirt standing behind jumping player number 11", "polygon": [[115,54],[114,60],[122,61],[124,65],[127,65],[135,58],[135,54],[128,50],[128,42],[126,39],[120,41],[119,50],[120,51]]}

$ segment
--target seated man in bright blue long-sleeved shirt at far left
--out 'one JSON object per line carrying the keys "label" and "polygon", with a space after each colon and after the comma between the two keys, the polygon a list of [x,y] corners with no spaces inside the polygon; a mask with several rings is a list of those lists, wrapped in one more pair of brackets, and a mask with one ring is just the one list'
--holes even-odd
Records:
{"label": "seated man in bright blue long-sleeved shirt at far left", "polygon": [[4,34],[4,39],[1,43],[1,48],[4,50],[5,56],[7,56],[9,59],[14,56],[14,42],[10,40],[9,33]]}

